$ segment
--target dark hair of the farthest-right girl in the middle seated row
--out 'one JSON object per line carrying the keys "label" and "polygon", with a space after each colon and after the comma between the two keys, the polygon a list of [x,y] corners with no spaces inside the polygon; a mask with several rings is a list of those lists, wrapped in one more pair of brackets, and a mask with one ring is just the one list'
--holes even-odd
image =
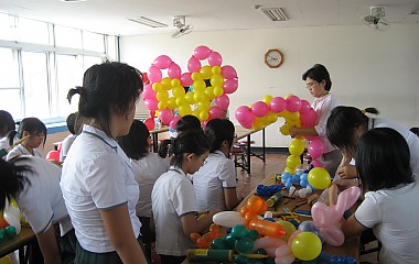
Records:
{"label": "dark hair of the farthest-right girl in the middle seated row", "polygon": [[205,135],[211,144],[211,152],[218,151],[224,141],[232,147],[234,124],[228,119],[213,119],[205,127]]}

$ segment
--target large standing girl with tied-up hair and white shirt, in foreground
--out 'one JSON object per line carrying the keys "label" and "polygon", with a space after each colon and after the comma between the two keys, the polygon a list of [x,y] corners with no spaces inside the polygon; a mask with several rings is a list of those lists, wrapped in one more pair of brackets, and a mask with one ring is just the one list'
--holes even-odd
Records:
{"label": "large standing girl with tied-up hair and white shirt, in foreground", "polygon": [[76,263],[146,263],[136,215],[138,184],[129,158],[115,139],[131,127],[142,91],[140,73],[122,63],[86,70],[78,112],[88,124],[63,166],[61,188],[78,240]]}

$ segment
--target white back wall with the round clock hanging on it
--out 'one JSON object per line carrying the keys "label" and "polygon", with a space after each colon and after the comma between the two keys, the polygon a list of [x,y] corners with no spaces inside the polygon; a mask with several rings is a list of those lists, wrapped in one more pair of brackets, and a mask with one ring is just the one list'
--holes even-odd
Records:
{"label": "white back wall with the round clock hanging on it", "polygon": [[[229,116],[235,123],[237,107],[265,95],[294,94],[312,101],[301,75],[321,63],[331,74],[331,92],[342,105],[376,107],[383,118],[408,128],[419,125],[419,24],[391,24],[384,32],[353,25],[192,32],[180,38],[136,35],[121,37],[120,44],[121,61],[142,72],[163,54],[187,72],[187,61],[198,45],[221,53],[223,65],[234,66],[239,78],[238,90],[230,95]],[[283,54],[277,69],[264,63],[269,48]],[[278,132],[282,122],[267,128],[267,146],[288,146],[290,138]],[[259,136],[254,138],[260,145]]]}

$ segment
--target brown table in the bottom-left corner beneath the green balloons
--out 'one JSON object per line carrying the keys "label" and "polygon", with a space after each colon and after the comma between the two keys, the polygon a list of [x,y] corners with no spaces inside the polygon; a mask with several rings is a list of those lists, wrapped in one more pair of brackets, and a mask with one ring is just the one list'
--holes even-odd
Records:
{"label": "brown table in the bottom-left corner beneath the green balloons", "polygon": [[35,240],[36,235],[30,227],[22,226],[22,230],[14,239],[6,239],[0,244],[0,258],[9,255],[10,253],[19,250],[19,263],[28,263],[28,255],[25,254],[24,246],[31,241]]}

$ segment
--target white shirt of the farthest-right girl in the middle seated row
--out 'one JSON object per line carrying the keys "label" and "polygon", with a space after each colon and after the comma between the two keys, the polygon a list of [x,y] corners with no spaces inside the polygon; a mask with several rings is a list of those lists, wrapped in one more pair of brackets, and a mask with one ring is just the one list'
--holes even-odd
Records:
{"label": "white shirt of the farthest-right girl in the middle seated row", "polygon": [[193,175],[197,210],[227,210],[224,188],[236,186],[234,162],[221,151],[210,153],[206,164]]}

